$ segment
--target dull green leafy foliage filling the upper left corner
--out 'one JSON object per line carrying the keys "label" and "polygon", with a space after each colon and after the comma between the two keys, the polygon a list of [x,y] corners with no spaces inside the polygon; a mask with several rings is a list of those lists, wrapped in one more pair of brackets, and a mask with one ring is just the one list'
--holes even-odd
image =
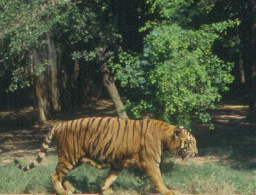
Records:
{"label": "dull green leafy foliage filling the upper left corner", "polygon": [[12,71],[9,90],[31,85],[31,78],[45,69],[43,64],[33,64],[31,53],[44,45],[45,32],[65,18],[60,10],[68,3],[52,4],[45,1],[0,1],[0,62]]}

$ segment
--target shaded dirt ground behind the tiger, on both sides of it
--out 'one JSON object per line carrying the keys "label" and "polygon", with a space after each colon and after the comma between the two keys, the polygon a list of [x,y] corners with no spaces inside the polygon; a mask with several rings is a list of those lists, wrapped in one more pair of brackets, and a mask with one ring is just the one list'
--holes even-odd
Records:
{"label": "shaded dirt ground behind the tiger, on both sides of it", "polygon": [[[35,159],[45,134],[54,124],[79,117],[116,115],[113,105],[106,100],[93,101],[76,112],[58,113],[43,125],[33,125],[32,111],[33,108],[0,111],[0,166],[12,162],[14,157]],[[214,130],[209,130],[209,124],[193,124],[199,154],[190,161],[256,168],[256,124],[246,121],[248,106],[225,103],[210,113]],[[47,154],[56,153],[54,143],[48,151]]]}

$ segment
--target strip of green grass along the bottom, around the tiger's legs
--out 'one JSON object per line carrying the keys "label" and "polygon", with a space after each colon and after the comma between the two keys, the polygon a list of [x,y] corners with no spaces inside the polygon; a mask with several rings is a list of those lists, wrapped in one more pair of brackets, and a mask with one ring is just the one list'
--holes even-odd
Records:
{"label": "strip of green grass along the bottom, around the tiger's legs", "polygon": [[[20,171],[14,163],[0,166],[0,194],[54,192],[50,176],[56,166],[56,157],[47,157],[46,165],[39,165],[31,171]],[[26,164],[26,163],[24,163]],[[174,164],[162,163],[161,172],[170,189],[190,194],[255,194],[255,170],[234,170],[230,166],[216,163]],[[99,192],[108,170],[96,170],[80,166],[68,175],[68,180],[83,192]],[[124,170],[113,184],[117,194],[153,192],[144,173],[138,169]]]}

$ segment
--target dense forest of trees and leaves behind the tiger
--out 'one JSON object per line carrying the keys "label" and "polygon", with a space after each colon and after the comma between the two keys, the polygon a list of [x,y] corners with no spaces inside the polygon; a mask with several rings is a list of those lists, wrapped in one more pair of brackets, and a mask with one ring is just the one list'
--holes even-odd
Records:
{"label": "dense forest of trees and leaves behind the tiger", "polygon": [[255,6],[2,0],[0,106],[31,105],[44,122],[110,97],[120,117],[189,127],[224,96],[243,99],[255,121]]}

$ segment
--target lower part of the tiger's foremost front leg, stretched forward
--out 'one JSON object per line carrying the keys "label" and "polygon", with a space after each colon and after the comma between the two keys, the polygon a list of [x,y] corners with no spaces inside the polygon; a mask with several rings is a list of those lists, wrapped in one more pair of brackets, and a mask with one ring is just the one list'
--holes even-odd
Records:
{"label": "lower part of the tiger's foremost front leg, stretched forward", "polygon": [[161,176],[161,172],[159,169],[159,164],[157,163],[144,163],[142,166],[146,175],[150,178],[150,181],[154,184],[157,191],[159,191],[163,195],[177,195],[178,191],[172,191],[168,189],[163,182],[163,178]]}

